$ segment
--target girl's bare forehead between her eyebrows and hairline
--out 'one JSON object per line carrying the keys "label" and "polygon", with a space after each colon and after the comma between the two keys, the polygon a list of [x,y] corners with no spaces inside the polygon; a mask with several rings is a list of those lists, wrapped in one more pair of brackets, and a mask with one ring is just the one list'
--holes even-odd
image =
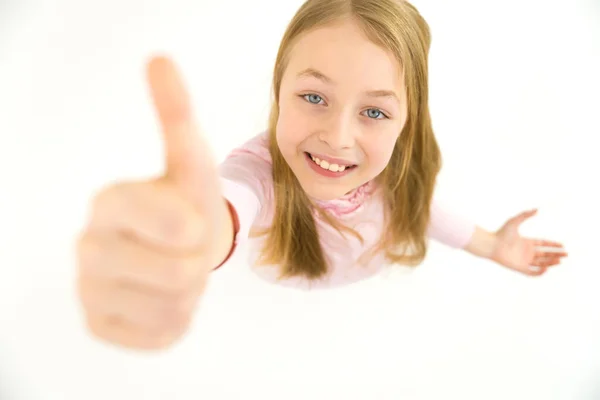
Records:
{"label": "girl's bare forehead between her eyebrows and hairline", "polygon": [[394,55],[369,40],[350,20],[299,37],[291,49],[286,75],[297,78],[307,69],[322,72],[332,83],[361,90],[403,88],[402,67]]}

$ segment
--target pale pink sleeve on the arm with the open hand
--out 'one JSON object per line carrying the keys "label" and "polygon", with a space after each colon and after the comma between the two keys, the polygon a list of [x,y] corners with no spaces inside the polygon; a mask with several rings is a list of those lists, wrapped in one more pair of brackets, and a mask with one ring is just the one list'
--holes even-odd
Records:
{"label": "pale pink sleeve on the arm with the open hand", "polygon": [[447,246],[464,248],[475,232],[475,224],[457,213],[452,213],[435,200],[431,205],[429,237]]}

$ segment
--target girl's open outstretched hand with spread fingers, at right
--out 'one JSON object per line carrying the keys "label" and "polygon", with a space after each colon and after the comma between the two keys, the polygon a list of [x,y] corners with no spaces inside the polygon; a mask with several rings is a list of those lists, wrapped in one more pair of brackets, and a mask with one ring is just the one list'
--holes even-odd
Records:
{"label": "girl's open outstretched hand with spread fingers, at right", "polygon": [[[530,275],[541,275],[546,268],[560,263],[560,259],[567,255],[562,244],[525,238],[519,234],[520,225],[536,212],[537,210],[523,212],[509,219],[496,232],[497,242],[492,254],[493,260],[510,269]],[[532,270],[531,267],[537,267],[538,270]]]}

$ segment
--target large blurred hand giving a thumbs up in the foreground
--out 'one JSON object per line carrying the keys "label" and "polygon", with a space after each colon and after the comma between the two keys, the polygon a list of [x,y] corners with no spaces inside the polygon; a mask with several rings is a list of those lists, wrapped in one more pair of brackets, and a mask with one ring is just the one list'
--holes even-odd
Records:
{"label": "large blurred hand giving a thumbs up in the foreground", "polygon": [[152,59],[148,81],[165,173],[101,191],[77,243],[78,293],[89,330],[135,349],[168,347],[187,331],[234,234],[216,163],[175,66]]}

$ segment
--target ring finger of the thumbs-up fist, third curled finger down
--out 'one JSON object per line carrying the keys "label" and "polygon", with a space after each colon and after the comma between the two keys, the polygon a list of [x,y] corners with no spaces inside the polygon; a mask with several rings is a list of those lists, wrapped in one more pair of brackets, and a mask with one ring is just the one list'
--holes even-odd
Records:
{"label": "ring finger of the thumbs-up fist, third curled finger down", "polygon": [[78,288],[87,312],[118,316],[156,334],[187,324],[198,300],[196,290],[166,295],[139,285],[86,277],[78,280]]}

